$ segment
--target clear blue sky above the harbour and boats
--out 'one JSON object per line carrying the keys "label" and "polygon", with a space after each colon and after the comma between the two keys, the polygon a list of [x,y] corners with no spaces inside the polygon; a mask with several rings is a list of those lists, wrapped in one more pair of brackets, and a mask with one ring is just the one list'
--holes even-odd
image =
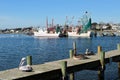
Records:
{"label": "clear blue sky above the harbour and boats", "polygon": [[73,24],[87,11],[92,22],[120,23],[120,0],[0,0],[0,29]]}

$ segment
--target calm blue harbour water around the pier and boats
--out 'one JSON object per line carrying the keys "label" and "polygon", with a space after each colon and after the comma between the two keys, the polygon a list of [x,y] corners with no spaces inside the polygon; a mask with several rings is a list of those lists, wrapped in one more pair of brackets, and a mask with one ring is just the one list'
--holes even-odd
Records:
{"label": "calm blue harbour water around the pier and boats", "polygon": [[[69,58],[69,50],[76,41],[77,52],[84,53],[88,48],[97,52],[97,46],[104,51],[114,50],[120,43],[120,37],[97,38],[37,38],[22,34],[0,34],[0,71],[18,67],[22,57],[32,55],[33,64]],[[83,76],[88,77],[83,77]],[[117,80],[117,65],[107,64],[106,80]],[[75,74],[76,80],[96,80],[96,71],[80,71]]]}

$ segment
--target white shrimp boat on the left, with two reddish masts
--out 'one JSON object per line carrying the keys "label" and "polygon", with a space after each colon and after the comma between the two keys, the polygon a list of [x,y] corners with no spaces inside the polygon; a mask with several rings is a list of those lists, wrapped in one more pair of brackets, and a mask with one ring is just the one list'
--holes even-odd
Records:
{"label": "white shrimp boat on the left, with two reddish masts", "polygon": [[54,26],[53,25],[53,19],[52,19],[52,25],[48,27],[48,18],[46,19],[46,26],[47,28],[38,28],[37,31],[34,32],[34,36],[36,37],[67,37],[68,35],[65,34],[66,30],[61,30],[60,26]]}

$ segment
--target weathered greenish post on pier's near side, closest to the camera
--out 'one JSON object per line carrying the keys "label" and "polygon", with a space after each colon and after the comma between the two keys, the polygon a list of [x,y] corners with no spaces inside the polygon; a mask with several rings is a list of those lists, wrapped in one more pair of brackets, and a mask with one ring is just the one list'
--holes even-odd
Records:
{"label": "weathered greenish post on pier's near side, closest to the camera", "polygon": [[61,72],[62,72],[62,80],[68,80],[67,76],[67,61],[61,62]]}

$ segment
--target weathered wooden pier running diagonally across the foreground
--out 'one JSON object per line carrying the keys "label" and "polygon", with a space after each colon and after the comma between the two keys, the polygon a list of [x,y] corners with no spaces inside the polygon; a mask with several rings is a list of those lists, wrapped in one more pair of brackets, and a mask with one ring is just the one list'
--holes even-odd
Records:
{"label": "weathered wooden pier running diagonally across the foreground", "polygon": [[[98,51],[100,47],[98,48]],[[67,62],[65,74],[74,74],[74,72],[81,70],[97,70],[98,75],[104,73],[105,64],[112,62],[118,62],[120,64],[120,45],[117,50],[105,52],[103,60],[101,60],[100,54],[86,56],[88,59],[75,60],[73,58],[63,59],[53,62],[47,62],[39,65],[32,65],[32,72],[22,72],[18,68],[0,71],[0,80],[63,80],[60,79],[64,73],[61,71],[61,62]],[[118,70],[120,65],[118,64]],[[99,69],[101,68],[101,69]],[[64,68],[63,68],[64,69]],[[74,75],[72,75],[74,77]],[[64,79],[67,80],[67,79]],[[74,79],[69,79],[74,80]],[[104,80],[104,79],[103,79]]]}

